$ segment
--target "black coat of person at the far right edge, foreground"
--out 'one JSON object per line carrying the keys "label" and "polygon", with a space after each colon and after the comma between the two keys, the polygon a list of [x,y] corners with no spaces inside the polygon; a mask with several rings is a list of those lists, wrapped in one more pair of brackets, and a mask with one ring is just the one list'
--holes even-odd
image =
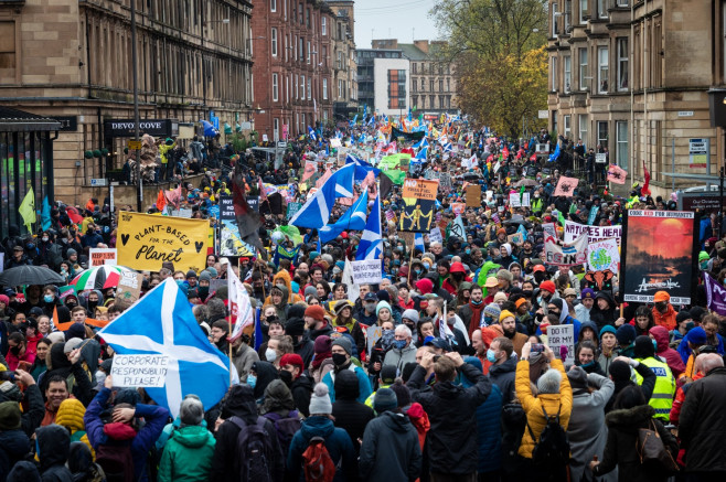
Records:
{"label": "black coat of person at the far right edge, foreground", "polygon": [[714,368],[686,392],[679,436],[687,471],[726,471],[726,368]]}

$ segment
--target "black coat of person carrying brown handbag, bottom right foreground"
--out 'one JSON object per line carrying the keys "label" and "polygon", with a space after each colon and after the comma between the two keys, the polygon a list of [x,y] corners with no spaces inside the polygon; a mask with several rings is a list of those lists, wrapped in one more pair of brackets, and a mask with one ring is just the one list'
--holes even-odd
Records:
{"label": "black coat of person carrying brown handbag, bottom right foreground", "polygon": [[[595,475],[612,471],[618,467],[618,481],[620,482],[665,482],[668,473],[659,473],[652,465],[640,463],[640,456],[636,450],[638,442],[638,429],[650,428],[653,425],[663,440],[663,444],[675,459],[679,444],[669,430],[653,418],[655,409],[650,405],[613,410],[605,416],[608,426],[608,441],[605,446],[602,461],[595,468]],[[681,413],[683,416],[683,413]]]}

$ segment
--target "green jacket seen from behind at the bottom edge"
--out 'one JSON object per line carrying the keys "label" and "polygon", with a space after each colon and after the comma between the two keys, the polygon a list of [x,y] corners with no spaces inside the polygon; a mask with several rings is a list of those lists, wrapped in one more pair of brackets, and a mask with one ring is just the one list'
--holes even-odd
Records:
{"label": "green jacket seen from behind at the bottom edge", "polygon": [[200,426],[174,430],[159,463],[159,482],[206,482],[212,470],[214,436]]}

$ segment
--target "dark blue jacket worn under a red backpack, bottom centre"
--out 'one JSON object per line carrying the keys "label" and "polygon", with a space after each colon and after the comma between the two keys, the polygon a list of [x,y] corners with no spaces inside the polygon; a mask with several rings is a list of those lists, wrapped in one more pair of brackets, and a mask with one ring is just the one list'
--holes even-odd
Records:
{"label": "dark blue jacket worn under a red backpack, bottom centre", "polygon": [[325,439],[325,448],[335,465],[340,463],[340,470],[335,472],[335,481],[355,480],[357,476],[357,462],[355,449],[350,436],[342,428],[337,428],[328,417],[312,416],[302,420],[302,427],[292,437],[290,451],[287,456],[287,468],[290,480],[305,480],[302,470],[302,452],[305,452],[313,437]]}

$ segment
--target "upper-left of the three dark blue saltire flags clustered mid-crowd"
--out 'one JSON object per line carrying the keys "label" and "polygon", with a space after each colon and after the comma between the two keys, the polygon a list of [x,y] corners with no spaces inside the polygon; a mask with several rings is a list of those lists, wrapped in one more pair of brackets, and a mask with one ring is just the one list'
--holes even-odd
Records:
{"label": "upper-left of the three dark blue saltire flags clustered mid-crowd", "polygon": [[338,197],[353,197],[355,164],[345,164],[335,171],[323,185],[295,213],[288,224],[320,229],[330,219],[330,210]]}

